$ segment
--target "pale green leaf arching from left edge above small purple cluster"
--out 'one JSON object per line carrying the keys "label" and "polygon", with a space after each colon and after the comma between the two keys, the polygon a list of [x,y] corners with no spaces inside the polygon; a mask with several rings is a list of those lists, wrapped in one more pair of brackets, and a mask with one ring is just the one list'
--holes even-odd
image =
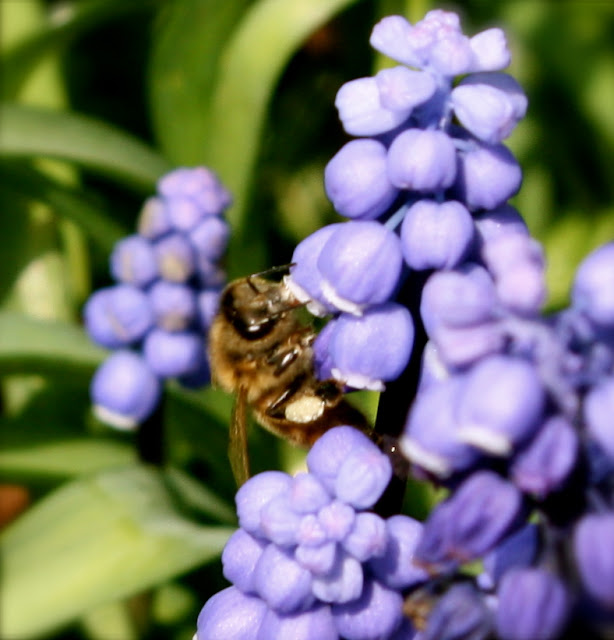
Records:
{"label": "pale green leaf arching from left edge above small purple cluster", "polygon": [[93,118],[4,104],[0,122],[0,149],[7,157],[75,162],[143,191],[171,168],[133,136]]}

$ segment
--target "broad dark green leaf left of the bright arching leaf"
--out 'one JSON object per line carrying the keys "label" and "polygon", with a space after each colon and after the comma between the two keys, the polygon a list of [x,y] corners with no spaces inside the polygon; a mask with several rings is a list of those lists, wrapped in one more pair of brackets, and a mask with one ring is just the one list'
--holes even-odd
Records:
{"label": "broad dark green leaf left of the bright arching leaf", "polygon": [[219,57],[249,2],[175,0],[161,7],[149,65],[151,114],[156,137],[176,164],[203,162]]}

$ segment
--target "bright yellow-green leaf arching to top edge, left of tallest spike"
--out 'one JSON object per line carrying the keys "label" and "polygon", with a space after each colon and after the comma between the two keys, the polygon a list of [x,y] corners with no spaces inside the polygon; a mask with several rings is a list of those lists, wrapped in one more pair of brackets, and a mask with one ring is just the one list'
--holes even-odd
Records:
{"label": "bright yellow-green leaf arching to top edge, left of tallest spike", "polygon": [[281,72],[309,34],[355,1],[260,0],[232,34],[209,101],[204,160],[233,193],[229,218],[236,229],[242,227],[263,122]]}

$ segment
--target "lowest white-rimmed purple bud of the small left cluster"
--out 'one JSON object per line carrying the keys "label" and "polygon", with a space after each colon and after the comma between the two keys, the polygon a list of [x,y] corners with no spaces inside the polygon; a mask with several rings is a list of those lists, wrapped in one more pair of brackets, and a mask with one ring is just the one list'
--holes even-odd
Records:
{"label": "lowest white-rimmed purple bud of the small left cluster", "polygon": [[162,389],[143,358],[121,350],[98,367],[90,392],[100,420],[118,429],[134,429],[155,409]]}

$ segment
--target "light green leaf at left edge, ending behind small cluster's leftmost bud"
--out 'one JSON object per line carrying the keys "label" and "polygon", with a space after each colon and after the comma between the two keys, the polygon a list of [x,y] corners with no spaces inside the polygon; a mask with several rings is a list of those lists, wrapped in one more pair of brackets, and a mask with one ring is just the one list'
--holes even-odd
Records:
{"label": "light green leaf at left edge, ending behind small cluster's leftmost bud", "polygon": [[83,379],[105,355],[76,325],[0,312],[0,373],[61,373]]}

